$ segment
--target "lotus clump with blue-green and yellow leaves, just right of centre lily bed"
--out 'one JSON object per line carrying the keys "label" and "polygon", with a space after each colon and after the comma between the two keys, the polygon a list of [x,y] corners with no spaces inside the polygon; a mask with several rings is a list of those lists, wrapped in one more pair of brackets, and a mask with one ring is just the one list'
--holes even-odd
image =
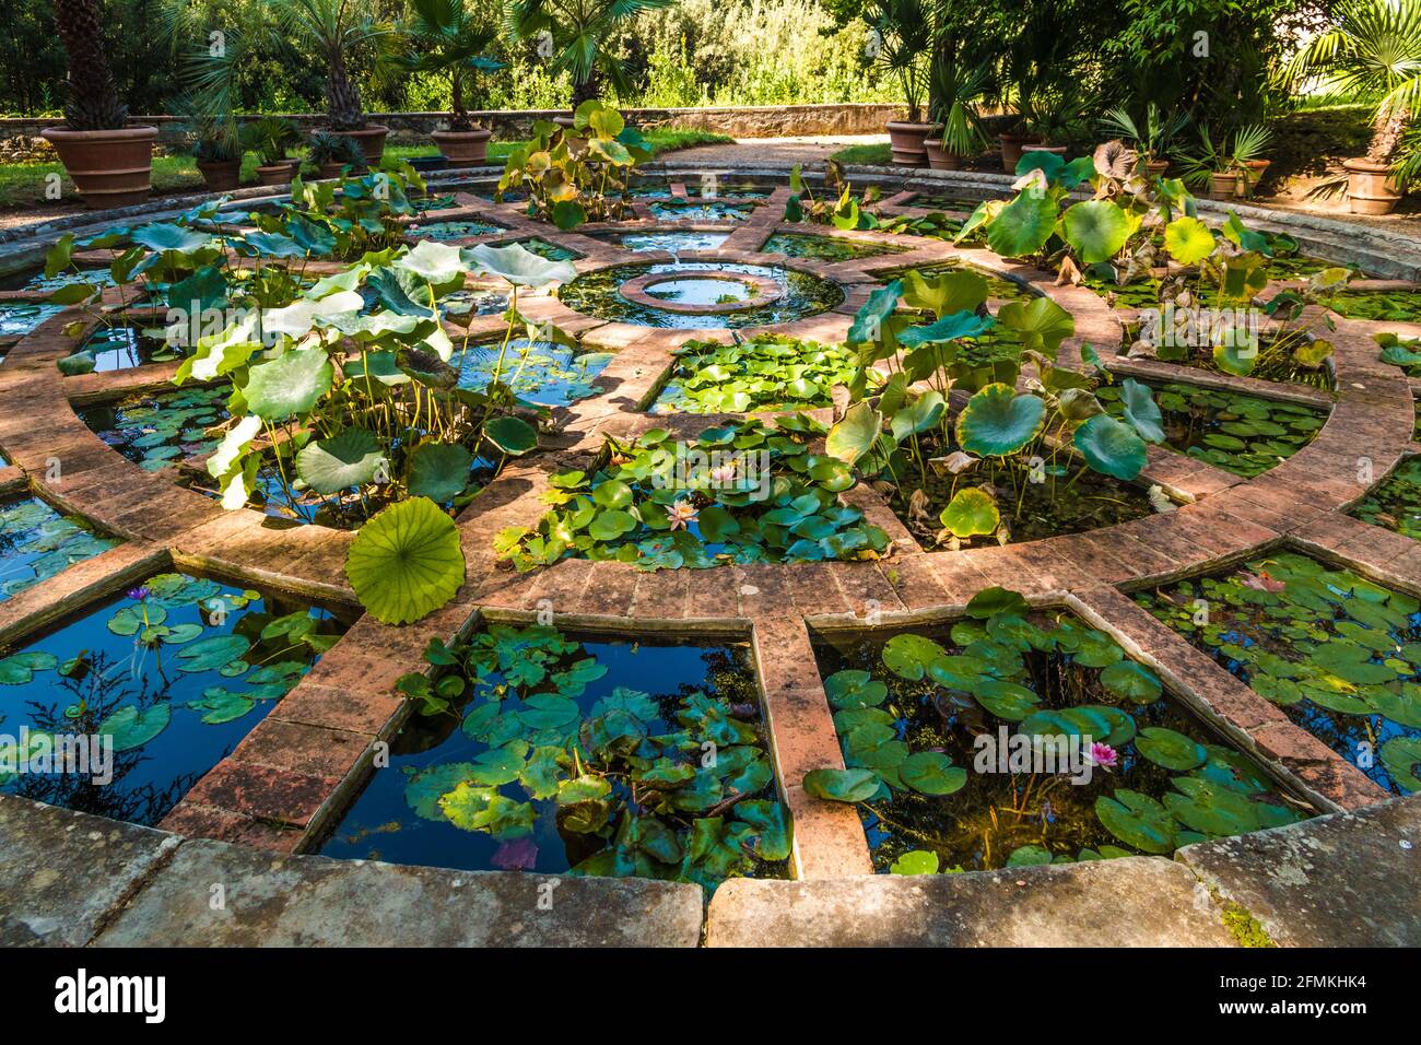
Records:
{"label": "lotus clump with blue-green and yellow leaves, just right of centre lily bed", "polygon": [[[1020,513],[1029,485],[1056,496],[1057,478],[1067,493],[1087,472],[1130,482],[1145,466],[1145,442],[1164,441],[1148,388],[1127,380],[1117,419],[1093,394],[1110,380],[1096,353],[1086,350],[1101,378],[1054,364],[1074,333],[1070,313],[1037,297],[993,317],[986,299],[986,280],[966,270],[909,272],[870,296],[848,331],[860,353],[850,405],[826,441],[831,456],[892,491],[915,529],[941,506],[941,529],[928,532],[949,547],[1009,540],[1005,516]],[[986,355],[985,336],[999,343]],[[1023,363],[1034,377],[1017,391]],[[971,392],[956,411],[953,391]]]}

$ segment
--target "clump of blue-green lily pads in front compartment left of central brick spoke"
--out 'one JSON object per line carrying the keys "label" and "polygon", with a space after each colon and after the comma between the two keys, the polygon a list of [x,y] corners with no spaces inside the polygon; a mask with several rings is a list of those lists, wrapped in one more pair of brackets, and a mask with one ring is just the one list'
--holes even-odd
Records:
{"label": "clump of blue-green lily pads in front compartment left of central brick spoke", "polygon": [[[774,873],[789,820],[753,704],[682,687],[615,687],[608,667],[551,627],[490,624],[469,643],[433,641],[436,680],[399,688],[426,715],[453,717],[472,758],[411,772],[419,818],[500,843],[496,866],[531,869],[536,825],[556,823],[573,874],[696,881]],[[689,691],[688,691],[689,690]]]}

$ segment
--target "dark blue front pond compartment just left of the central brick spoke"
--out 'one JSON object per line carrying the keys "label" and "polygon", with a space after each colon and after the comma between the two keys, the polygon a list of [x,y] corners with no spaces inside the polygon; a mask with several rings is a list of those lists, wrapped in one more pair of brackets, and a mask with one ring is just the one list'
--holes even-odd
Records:
{"label": "dark blue front pond compartment just left of the central brick spoke", "polygon": [[745,644],[495,624],[456,660],[449,708],[411,717],[323,854],[708,886],[786,873]]}

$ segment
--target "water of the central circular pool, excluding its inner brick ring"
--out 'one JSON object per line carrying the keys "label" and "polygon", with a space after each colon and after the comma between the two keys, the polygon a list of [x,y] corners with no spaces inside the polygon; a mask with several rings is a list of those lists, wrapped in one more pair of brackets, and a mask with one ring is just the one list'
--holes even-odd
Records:
{"label": "water of the central circular pool, excluding its inner brick ring", "polygon": [[[747,276],[760,276],[774,280],[782,296],[757,309],[740,309],[729,313],[678,313],[665,309],[655,309],[647,304],[628,301],[621,296],[620,287],[627,280],[648,273],[654,274],[685,274],[692,290],[709,283],[696,279],[696,273],[725,272]],[[665,287],[665,284],[661,284]],[[753,327],[766,323],[787,323],[806,316],[817,316],[828,311],[844,300],[844,291],[836,283],[823,280],[809,273],[793,272],[782,266],[769,264],[729,264],[722,262],[681,262],[681,263],[632,263],[618,264],[611,269],[578,276],[571,283],[558,289],[558,297],[566,306],[598,318],[635,323],[644,327],[671,327],[678,330],[692,330],[698,327],[730,328]]]}

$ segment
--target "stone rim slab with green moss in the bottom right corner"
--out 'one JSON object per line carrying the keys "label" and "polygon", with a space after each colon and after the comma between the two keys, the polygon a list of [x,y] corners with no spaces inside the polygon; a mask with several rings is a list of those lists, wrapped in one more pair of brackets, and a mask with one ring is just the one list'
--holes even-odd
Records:
{"label": "stone rim slab with green moss in the bottom right corner", "polygon": [[1421,947],[1421,795],[1175,859],[1285,947]]}

